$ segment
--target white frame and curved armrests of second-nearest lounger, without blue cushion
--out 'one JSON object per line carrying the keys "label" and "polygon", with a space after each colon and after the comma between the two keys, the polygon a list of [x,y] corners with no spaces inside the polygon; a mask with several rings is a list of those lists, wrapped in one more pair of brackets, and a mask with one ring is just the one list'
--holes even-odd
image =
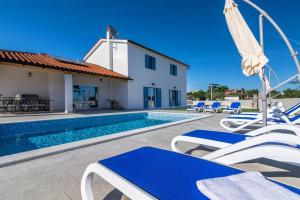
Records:
{"label": "white frame and curved armrests of second-nearest lounger, without blue cushion", "polygon": [[[294,135],[284,133],[264,134],[276,130],[288,130],[293,132]],[[282,162],[294,163],[295,165],[300,164],[300,150],[289,146],[283,146],[296,146],[300,144],[299,128],[291,125],[270,125],[255,131],[251,131],[246,135],[252,137],[235,144],[180,135],[172,140],[171,148],[175,152],[183,153],[177,148],[178,142],[189,142],[193,144],[219,148],[219,150],[209,153],[202,158],[214,160],[224,164],[233,164],[262,157]],[[267,142],[281,143],[282,145],[261,145]],[[282,149],[282,151],[277,151],[278,148]],[[273,150],[270,151],[270,149]]]}

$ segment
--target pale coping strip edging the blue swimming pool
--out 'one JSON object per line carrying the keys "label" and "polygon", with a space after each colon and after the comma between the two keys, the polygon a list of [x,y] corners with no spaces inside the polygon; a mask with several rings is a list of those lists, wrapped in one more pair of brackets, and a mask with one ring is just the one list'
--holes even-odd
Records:
{"label": "pale coping strip edging the blue swimming pool", "polygon": [[[143,112],[147,112],[147,111],[143,111]],[[148,112],[155,112],[155,111],[148,111]],[[160,113],[184,114],[184,113],[180,113],[180,112],[178,112],[178,113],[160,112]],[[196,115],[196,114],[189,114],[189,115]],[[205,118],[209,118],[209,117],[213,117],[213,116],[214,115],[212,115],[212,114],[199,115],[199,116],[197,116],[195,118],[191,118],[191,119],[184,119],[184,120],[179,120],[179,121],[175,121],[175,122],[169,122],[166,124],[160,124],[160,125],[149,126],[149,127],[145,127],[145,128],[123,131],[123,132],[119,132],[119,133],[115,133],[115,134],[99,136],[99,137],[90,138],[90,139],[86,139],[86,140],[70,142],[70,143],[66,143],[66,144],[60,144],[60,145],[55,145],[55,146],[51,146],[51,147],[46,147],[46,148],[21,152],[21,153],[17,153],[17,154],[2,156],[2,157],[0,157],[0,168],[11,166],[11,165],[22,163],[22,162],[27,162],[30,160],[35,160],[35,159],[42,158],[42,157],[47,157],[47,156],[67,152],[67,151],[85,148],[85,147],[89,147],[89,146],[93,146],[93,145],[97,145],[97,144],[101,144],[101,143],[105,143],[105,142],[110,142],[113,140],[118,140],[118,139],[130,137],[130,136],[134,136],[134,135],[138,135],[138,134],[142,134],[142,133],[146,133],[146,132],[150,132],[150,131],[154,131],[154,130],[158,130],[158,129],[162,129],[162,128],[167,128],[167,127],[174,126],[174,125],[179,125],[179,124],[188,123],[188,122],[192,122],[192,121],[196,121],[196,120],[201,120],[201,119],[205,119]],[[83,116],[83,117],[86,117],[86,116]]]}

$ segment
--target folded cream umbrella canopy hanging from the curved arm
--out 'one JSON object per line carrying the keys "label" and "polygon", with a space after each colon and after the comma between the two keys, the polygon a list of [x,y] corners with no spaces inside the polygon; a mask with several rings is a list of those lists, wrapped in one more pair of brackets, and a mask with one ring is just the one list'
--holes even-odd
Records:
{"label": "folded cream umbrella canopy hanging from the curved arm", "polygon": [[[243,73],[246,76],[259,74],[262,79],[263,67],[269,60],[233,0],[226,0],[224,14],[231,36],[242,56]],[[268,81],[266,85],[269,87]]]}

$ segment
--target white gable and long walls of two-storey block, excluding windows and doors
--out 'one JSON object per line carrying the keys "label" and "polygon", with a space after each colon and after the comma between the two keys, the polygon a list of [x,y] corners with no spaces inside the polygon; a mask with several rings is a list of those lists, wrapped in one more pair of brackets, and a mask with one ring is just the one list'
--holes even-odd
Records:
{"label": "white gable and long walls of two-storey block, excluding windows and doors", "polygon": [[[109,68],[107,43],[105,40],[101,41],[86,61]],[[128,81],[127,86],[116,84],[112,93],[113,98],[123,101],[125,108],[144,107],[143,87],[161,88],[162,108],[169,107],[169,90],[176,87],[176,90],[181,91],[181,106],[186,106],[186,66],[126,40],[115,40],[113,46],[114,71],[133,79]],[[156,70],[145,68],[145,54],[156,58]],[[177,65],[177,76],[170,75],[170,64]]]}

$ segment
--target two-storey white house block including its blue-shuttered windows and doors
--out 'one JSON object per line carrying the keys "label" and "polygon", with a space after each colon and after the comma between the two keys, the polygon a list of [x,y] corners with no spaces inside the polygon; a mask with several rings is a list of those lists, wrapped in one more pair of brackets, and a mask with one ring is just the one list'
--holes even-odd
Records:
{"label": "two-storey white house block including its blue-shuttered windows and doors", "polygon": [[[113,70],[131,80],[124,83],[119,101],[127,109],[186,106],[188,65],[131,40],[112,40]],[[108,43],[101,39],[84,61],[110,68]],[[126,92],[124,92],[126,91]]]}

